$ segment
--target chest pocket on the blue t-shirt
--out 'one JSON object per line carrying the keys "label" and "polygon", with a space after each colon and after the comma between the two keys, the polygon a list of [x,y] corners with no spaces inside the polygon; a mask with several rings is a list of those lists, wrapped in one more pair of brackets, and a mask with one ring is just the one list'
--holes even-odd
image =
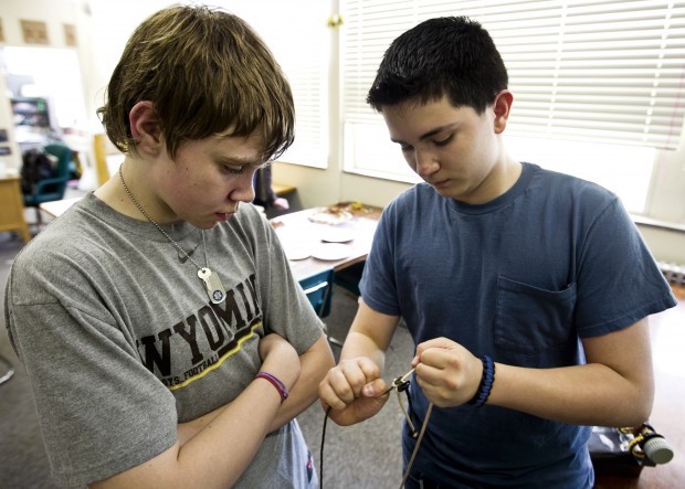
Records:
{"label": "chest pocket on the blue t-shirt", "polygon": [[[539,355],[577,342],[576,284],[547,290],[504,276],[497,278],[495,346],[509,358]],[[519,359],[520,360],[520,359]]]}

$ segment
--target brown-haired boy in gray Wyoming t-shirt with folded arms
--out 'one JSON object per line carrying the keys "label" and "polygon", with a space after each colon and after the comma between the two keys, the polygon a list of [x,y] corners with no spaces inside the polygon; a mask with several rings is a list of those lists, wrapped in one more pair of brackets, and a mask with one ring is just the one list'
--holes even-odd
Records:
{"label": "brown-haired boy in gray Wyoming t-shirt with folded arms", "polygon": [[55,481],[316,487],[295,416],[333,354],[250,204],[293,141],[280,66],[238,17],[171,7],[134,32],[99,114],[119,171],[7,287]]}

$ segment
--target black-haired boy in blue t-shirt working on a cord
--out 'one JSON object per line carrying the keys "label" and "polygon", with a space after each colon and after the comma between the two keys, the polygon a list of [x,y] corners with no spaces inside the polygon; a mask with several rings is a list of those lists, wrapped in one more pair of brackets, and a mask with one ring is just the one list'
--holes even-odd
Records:
{"label": "black-haired boy in blue t-shirt working on a cord", "polygon": [[514,96],[475,21],[400,35],[368,102],[424,182],[383,212],[324,406],[380,411],[402,318],[413,424],[432,413],[408,488],[591,488],[590,426],[649,418],[647,316],[676,304],[636,227],[613,193],[507,153]]}

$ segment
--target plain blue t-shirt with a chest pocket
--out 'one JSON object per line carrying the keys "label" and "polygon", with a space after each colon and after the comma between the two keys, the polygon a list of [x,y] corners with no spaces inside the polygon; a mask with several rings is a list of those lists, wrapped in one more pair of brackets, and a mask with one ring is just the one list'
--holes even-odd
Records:
{"label": "plain blue t-shirt with a chest pocket", "polygon": [[[426,183],[402,193],[383,212],[360,289],[372,309],[401,316],[415,343],[446,337],[539,369],[583,363],[581,338],[676,304],[613,193],[530,163],[485,204]],[[420,426],[428,400],[415,383],[410,393]],[[590,427],[498,406],[434,407],[413,467],[450,487],[589,488],[589,437]],[[407,433],[403,445],[407,459]]]}

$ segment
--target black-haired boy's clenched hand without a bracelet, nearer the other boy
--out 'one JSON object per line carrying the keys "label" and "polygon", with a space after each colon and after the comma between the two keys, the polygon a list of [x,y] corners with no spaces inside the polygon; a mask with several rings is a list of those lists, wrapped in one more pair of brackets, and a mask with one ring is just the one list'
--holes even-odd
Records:
{"label": "black-haired boy's clenched hand without a bracelet, nearer the other boy", "polygon": [[360,357],[342,360],[328,371],[318,386],[324,410],[340,426],[368,419],[388,401],[388,384],[380,378],[378,365]]}

